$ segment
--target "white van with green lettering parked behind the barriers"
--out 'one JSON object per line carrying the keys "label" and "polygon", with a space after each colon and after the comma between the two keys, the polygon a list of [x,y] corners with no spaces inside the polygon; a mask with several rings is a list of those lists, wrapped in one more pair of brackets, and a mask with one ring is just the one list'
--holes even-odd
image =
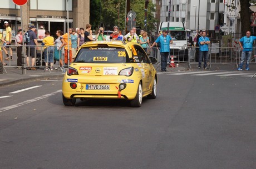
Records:
{"label": "white van with green lettering parked behind the barriers", "polygon": [[[168,22],[160,22],[159,32],[168,30]],[[170,55],[180,61],[188,61],[188,30],[184,22],[169,22],[169,35],[173,38],[170,44]],[[192,41],[192,38],[189,38]]]}

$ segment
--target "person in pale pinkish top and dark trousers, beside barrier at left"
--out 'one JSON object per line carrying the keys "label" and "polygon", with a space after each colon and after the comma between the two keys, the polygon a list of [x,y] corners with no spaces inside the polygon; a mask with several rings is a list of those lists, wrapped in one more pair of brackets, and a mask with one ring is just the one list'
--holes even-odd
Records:
{"label": "person in pale pinkish top and dark trousers, beside barrier at left", "polygon": [[17,47],[17,69],[21,69],[22,66],[22,30],[18,30],[18,34],[15,37],[15,45]]}

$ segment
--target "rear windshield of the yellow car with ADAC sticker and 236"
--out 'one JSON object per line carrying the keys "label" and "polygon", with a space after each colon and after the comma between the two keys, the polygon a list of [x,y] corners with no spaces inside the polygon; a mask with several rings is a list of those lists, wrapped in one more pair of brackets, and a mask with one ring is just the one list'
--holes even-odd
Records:
{"label": "rear windshield of the yellow car with ADAC sticker and 236", "polygon": [[128,54],[124,48],[116,47],[88,47],[82,48],[75,63],[126,63]]}

